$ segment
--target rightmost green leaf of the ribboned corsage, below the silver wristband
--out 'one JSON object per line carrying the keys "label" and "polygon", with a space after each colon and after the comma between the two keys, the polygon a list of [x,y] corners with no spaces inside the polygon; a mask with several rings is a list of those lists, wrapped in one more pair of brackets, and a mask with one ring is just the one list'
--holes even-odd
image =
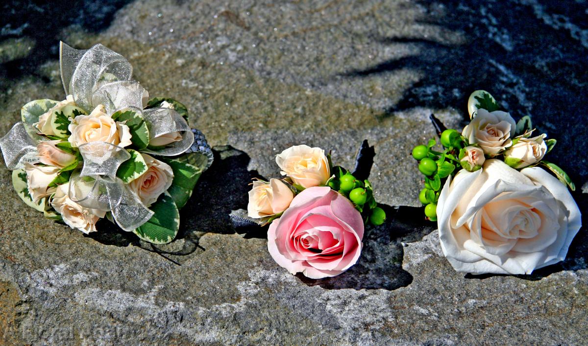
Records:
{"label": "rightmost green leaf of the ribboned corsage, below the silver wristband", "polygon": [[202,169],[178,159],[162,158],[161,160],[172,167],[173,180],[168,192],[180,209],[186,205],[186,202],[192,196],[192,190],[198,183]]}

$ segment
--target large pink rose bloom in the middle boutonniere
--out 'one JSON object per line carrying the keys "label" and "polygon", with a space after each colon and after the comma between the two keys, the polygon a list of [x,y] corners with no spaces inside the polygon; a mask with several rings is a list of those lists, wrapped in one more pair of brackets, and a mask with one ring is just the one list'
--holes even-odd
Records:
{"label": "large pink rose bloom in the middle boutonniere", "polygon": [[290,273],[323,278],[358,261],[362,238],[362,216],[348,199],[327,186],[310,187],[269,226],[268,250]]}

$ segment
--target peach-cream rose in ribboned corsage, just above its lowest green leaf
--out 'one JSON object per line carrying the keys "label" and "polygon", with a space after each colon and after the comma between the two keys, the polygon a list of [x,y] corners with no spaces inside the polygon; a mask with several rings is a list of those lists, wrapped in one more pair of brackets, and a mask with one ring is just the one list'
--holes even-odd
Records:
{"label": "peach-cream rose in ribboned corsage, just above its lowest green leaf", "polygon": [[169,164],[161,162],[148,154],[141,154],[147,164],[147,170],[129,183],[129,188],[149,207],[172,184],[173,170]]}

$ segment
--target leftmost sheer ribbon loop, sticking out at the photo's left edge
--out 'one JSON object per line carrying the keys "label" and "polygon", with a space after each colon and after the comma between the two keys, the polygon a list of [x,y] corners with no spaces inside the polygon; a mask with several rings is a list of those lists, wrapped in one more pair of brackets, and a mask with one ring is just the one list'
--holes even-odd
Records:
{"label": "leftmost sheer ribbon loop, sticking out at the photo's left edge", "polygon": [[12,126],[12,129],[0,139],[0,149],[9,170],[21,169],[26,162],[39,162],[36,143],[26,132],[22,122]]}

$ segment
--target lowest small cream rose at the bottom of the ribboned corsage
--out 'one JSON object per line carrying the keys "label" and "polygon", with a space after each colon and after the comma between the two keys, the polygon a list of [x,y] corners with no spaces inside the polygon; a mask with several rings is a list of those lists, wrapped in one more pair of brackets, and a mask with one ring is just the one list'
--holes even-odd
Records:
{"label": "lowest small cream rose at the bottom of the ribboned corsage", "polygon": [[69,198],[68,192],[69,183],[59,185],[51,199],[51,206],[61,214],[64,222],[72,229],[81,230],[86,234],[95,232],[96,222],[104,217],[106,212],[82,207]]}

